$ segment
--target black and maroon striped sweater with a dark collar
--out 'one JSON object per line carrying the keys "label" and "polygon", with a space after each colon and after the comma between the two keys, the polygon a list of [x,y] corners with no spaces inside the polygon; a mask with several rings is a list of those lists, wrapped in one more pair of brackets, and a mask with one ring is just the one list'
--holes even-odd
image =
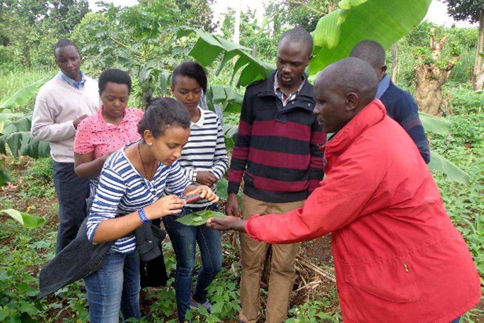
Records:
{"label": "black and maroon striped sweater with a dark collar", "polygon": [[230,163],[228,193],[272,203],[304,200],[323,179],[326,134],[313,114],[308,81],[286,106],[274,93],[274,75],[246,89]]}

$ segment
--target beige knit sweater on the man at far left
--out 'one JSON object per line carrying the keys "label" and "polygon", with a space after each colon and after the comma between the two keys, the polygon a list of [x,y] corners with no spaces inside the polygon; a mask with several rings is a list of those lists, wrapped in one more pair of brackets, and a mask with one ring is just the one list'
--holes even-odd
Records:
{"label": "beige knit sweater on the man at far left", "polygon": [[86,76],[78,90],[54,76],[37,94],[32,116],[32,136],[50,144],[50,155],[59,163],[74,163],[73,121],[82,115],[93,115],[100,105],[97,82]]}

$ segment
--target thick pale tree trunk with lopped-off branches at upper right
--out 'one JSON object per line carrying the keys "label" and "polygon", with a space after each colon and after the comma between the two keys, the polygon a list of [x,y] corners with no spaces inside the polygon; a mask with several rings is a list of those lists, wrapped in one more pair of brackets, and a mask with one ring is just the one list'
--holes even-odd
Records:
{"label": "thick pale tree trunk with lopped-off branches at upper right", "polygon": [[419,57],[414,66],[415,71],[415,101],[419,110],[431,115],[439,115],[440,105],[442,103],[442,86],[449,78],[455,63],[459,56],[452,56],[445,66],[440,67],[435,62],[440,58],[442,47],[447,39],[443,36],[440,40],[436,39],[435,29],[430,30],[430,44],[432,49],[432,62],[426,62],[426,59]]}

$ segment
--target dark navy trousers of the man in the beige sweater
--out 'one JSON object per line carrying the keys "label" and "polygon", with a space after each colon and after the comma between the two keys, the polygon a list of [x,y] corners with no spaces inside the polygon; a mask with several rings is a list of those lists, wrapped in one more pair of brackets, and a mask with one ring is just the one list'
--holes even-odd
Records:
{"label": "dark navy trousers of the man in the beige sweater", "polygon": [[89,197],[89,179],[79,178],[73,163],[54,161],[52,168],[55,193],[59,201],[59,229],[55,254],[59,253],[77,235],[86,217],[86,198]]}

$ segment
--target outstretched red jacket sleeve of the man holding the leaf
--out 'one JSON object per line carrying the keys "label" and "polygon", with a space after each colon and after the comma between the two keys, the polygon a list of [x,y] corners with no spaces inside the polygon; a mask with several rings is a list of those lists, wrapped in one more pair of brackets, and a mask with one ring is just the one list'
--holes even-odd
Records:
{"label": "outstretched red jacket sleeve of the man holding the leaf", "polygon": [[372,208],[384,207],[386,199],[373,197],[385,173],[379,165],[369,169],[373,157],[371,152],[361,150],[351,158],[338,160],[303,207],[285,214],[252,217],[245,226],[247,233],[268,243],[308,241],[371,212],[368,205],[372,203]]}

